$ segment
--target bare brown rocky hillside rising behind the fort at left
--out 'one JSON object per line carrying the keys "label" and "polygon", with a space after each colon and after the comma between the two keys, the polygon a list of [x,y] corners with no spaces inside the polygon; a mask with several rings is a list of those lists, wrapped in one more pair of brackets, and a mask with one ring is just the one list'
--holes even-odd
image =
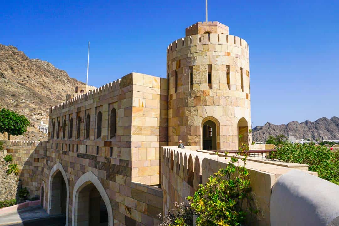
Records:
{"label": "bare brown rocky hillside rising behind the fort at left", "polygon": [[[11,140],[46,140],[38,124],[47,124],[49,108],[65,101],[65,95],[74,93],[80,84],[84,83],[51,63],[29,59],[16,47],[0,44],[0,109],[25,115],[33,125],[24,136],[11,136]],[[0,134],[0,139],[7,136]]]}

